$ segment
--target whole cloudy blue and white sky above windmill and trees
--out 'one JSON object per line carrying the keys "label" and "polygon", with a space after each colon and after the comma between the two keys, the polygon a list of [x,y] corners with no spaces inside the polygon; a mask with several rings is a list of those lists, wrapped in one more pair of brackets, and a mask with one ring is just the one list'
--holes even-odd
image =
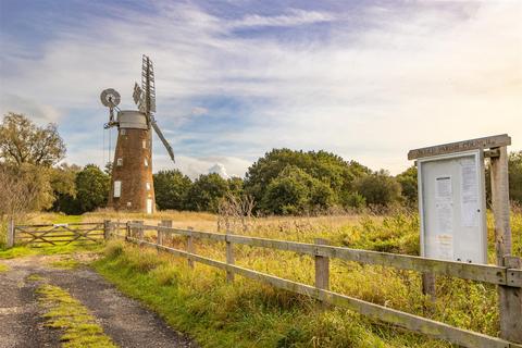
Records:
{"label": "whole cloudy blue and white sky above windmill and trees", "polygon": [[[273,148],[397,174],[410,149],[508,133],[522,149],[522,1],[0,0],[0,114],[58,124],[103,165],[154,64],[153,167],[244,176]],[[110,145],[111,142],[111,145]]]}

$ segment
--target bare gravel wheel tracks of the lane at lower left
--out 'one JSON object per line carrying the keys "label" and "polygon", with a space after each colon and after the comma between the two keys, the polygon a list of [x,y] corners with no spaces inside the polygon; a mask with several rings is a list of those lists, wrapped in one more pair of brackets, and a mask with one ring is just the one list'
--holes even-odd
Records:
{"label": "bare gravel wheel tracks of the lane at lower left", "polygon": [[120,347],[197,347],[173,331],[156,313],[129,299],[87,266],[61,270],[50,266],[59,256],[1,260],[10,270],[0,273],[0,348],[59,347],[60,332],[44,326],[35,290],[38,274],[86,306],[103,331]]}

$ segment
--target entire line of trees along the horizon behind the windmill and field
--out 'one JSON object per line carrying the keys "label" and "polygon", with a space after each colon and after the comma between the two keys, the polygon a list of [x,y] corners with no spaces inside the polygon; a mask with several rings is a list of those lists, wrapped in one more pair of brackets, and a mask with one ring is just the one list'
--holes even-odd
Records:
{"label": "entire line of trees along the horizon behind the windmill and field", "polygon": [[[5,115],[0,126],[0,185],[9,184],[11,189],[0,196],[0,214],[22,207],[22,202],[10,201],[16,196],[30,197],[26,210],[80,214],[104,208],[110,165],[101,170],[94,164],[57,164],[64,156],[65,146],[54,125],[38,127],[24,115]],[[304,214],[415,207],[418,197],[414,166],[393,176],[322,150],[273,149],[248,169],[245,178],[203,174],[192,181],[172,170],[154,174],[153,179],[160,210],[219,212],[223,200],[247,197],[253,200],[256,213]],[[510,153],[509,181],[510,198],[522,203],[522,151]]]}

